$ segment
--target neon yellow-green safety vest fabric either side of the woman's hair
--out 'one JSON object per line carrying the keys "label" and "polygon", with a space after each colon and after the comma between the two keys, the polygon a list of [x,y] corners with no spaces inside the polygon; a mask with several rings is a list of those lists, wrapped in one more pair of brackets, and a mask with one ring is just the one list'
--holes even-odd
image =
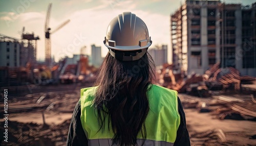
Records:
{"label": "neon yellow-green safety vest fabric either side of the woman's hair", "polygon": [[[109,125],[108,116],[105,119],[106,130],[99,131],[97,113],[93,105],[96,89],[97,87],[81,89],[81,124],[89,145],[94,145],[93,143],[98,139],[104,141],[114,137],[111,124],[110,131],[107,130]],[[153,84],[148,90],[147,96],[150,103],[150,111],[145,119],[146,142],[153,141],[153,145],[155,142],[155,145],[172,145],[180,125],[177,91]],[[137,138],[142,139],[142,136],[139,134]],[[108,143],[104,145],[108,145]],[[151,143],[144,143],[144,145],[151,145]]]}

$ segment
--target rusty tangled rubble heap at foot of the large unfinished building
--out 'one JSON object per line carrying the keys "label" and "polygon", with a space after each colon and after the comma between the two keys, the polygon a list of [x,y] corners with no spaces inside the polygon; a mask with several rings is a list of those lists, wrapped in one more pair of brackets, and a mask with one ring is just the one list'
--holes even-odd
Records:
{"label": "rusty tangled rubble heap at foot of the large unfinished building", "polygon": [[[182,71],[176,71],[172,64],[164,64],[159,71],[159,84],[177,90],[180,93],[188,93],[200,97],[211,95],[210,91],[237,91],[256,95],[256,78],[240,76],[240,72],[233,67],[220,68],[220,63],[214,64],[204,75],[191,74],[186,78]],[[251,84],[251,86],[247,86]]]}

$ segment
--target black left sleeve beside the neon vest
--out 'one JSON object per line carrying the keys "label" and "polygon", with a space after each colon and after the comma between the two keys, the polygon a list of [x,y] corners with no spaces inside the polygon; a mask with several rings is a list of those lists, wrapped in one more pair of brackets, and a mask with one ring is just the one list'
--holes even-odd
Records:
{"label": "black left sleeve beside the neon vest", "polygon": [[76,104],[76,107],[74,109],[74,112],[73,112],[73,115],[71,118],[66,145],[88,146],[88,140],[87,140],[86,134],[84,133],[84,131],[82,129],[80,116],[81,116],[81,103],[79,101]]}

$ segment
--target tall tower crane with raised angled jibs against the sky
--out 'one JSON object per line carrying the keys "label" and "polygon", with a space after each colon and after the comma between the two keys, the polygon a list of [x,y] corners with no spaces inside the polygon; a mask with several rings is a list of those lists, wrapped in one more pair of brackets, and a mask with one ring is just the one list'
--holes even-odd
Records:
{"label": "tall tower crane with raised angled jibs against the sky", "polygon": [[46,37],[45,46],[46,46],[46,65],[47,66],[51,66],[51,34],[55,33],[56,31],[66,26],[67,23],[70,22],[70,19],[68,19],[63,23],[61,23],[61,25],[59,25],[55,30],[50,31],[51,28],[49,28],[49,22],[50,22],[51,9],[52,9],[52,3],[50,3],[48,6],[48,10],[46,13],[46,23],[45,23],[45,37]]}

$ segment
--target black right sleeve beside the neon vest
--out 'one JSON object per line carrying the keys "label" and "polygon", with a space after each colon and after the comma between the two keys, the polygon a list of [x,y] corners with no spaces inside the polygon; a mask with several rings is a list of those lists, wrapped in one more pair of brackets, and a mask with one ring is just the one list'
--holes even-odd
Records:
{"label": "black right sleeve beside the neon vest", "polygon": [[187,126],[186,126],[186,117],[185,117],[185,113],[183,111],[183,107],[182,107],[182,104],[180,102],[179,97],[178,97],[178,110],[179,110],[179,114],[180,114],[180,126],[179,126],[178,131],[177,131],[177,137],[176,137],[176,140],[174,142],[174,146],[176,146],[176,145],[182,145],[182,146],[190,145],[189,134],[188,134],[188,131],[187,131]]}

